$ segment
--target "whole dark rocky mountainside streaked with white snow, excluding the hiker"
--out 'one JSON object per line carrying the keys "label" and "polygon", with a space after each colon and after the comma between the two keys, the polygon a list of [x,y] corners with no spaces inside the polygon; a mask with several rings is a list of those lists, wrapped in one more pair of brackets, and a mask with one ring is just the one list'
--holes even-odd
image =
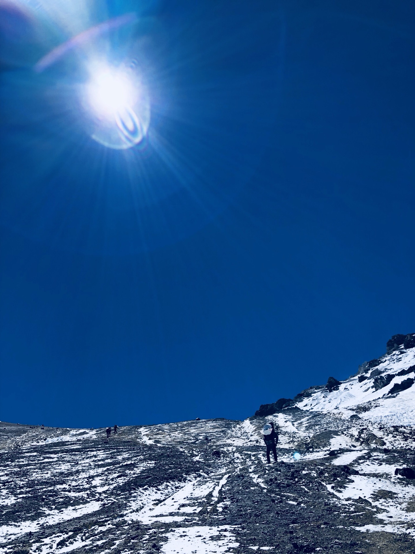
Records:
{"label": "whole dark rocky mountainside streaked with white snow, excluding the hiker", "polygon": [[[414,552],[415,335],[400,337],[346,381],[243,422],[109,439],[0,424],[0,552]],[[259,433],[269,421],[280,437],[271,465]]]}

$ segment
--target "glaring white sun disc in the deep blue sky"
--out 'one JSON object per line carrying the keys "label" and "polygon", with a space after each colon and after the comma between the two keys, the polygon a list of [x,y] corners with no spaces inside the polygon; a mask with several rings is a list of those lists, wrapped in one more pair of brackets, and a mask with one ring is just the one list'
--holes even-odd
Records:
{"label": "glaring white sun disc in the deep blue sky", "polygon": [[100,117],[112,119],[134,104],[134,89],[122,71],[104,66],[92,73],[87,97]]}

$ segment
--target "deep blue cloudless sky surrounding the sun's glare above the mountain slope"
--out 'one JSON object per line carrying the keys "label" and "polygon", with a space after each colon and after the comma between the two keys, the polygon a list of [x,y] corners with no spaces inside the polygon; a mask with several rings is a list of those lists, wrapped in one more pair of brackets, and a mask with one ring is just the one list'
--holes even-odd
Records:
{"label": "deep blue cloudless sky surrounding the sun's glare above the mountain slope", "polygon": [[[415,332],[412,1],[82,3],[0,8],[2,420],[242,419]],[[138,4],[106,55],[151,122],[112,150],[76,53],[32,68]]]}

